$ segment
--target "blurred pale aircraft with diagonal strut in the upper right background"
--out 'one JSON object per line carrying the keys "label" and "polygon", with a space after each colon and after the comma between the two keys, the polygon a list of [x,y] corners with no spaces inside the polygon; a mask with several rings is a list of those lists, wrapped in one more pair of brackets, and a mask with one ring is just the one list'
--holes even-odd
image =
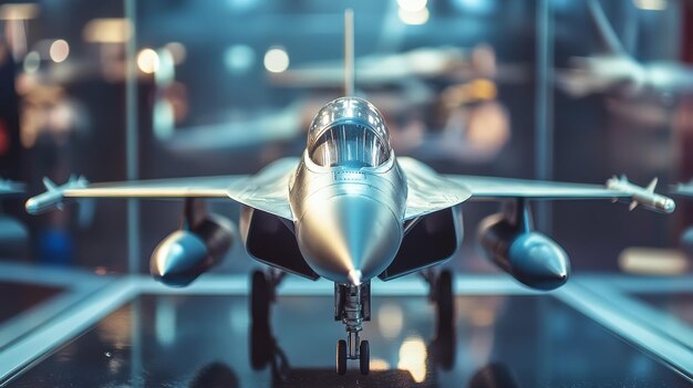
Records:
{"label": "blurred pale aircraft with diagonal strut in the upper right background", "polygon": [[693,69],[675,62],[639,63],[621,44],[598,0],[588,1],[607,53],[571,60],[575,69],[560,71],[558,84],[580,97],[592,93],[621,92],[628,96],[693,92]]}

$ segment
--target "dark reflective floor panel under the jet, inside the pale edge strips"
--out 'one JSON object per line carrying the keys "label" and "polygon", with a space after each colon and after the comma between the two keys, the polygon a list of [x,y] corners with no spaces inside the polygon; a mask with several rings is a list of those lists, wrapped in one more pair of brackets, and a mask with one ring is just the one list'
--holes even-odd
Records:
{"label": "dark reflective floor panel under the jet, inside the pale edge strips", "polygon": [[[436,327],[421,285],[374,284],[373,321],[363,334],[371,342],[369,376],[355,364],[345,376],[334,373],[335,342],[344,329],[332,319],[329,284],[319,292],[280,293],[270,327],[252,327],[242,292],[215,292],[214,284],[175,293],[144,287],[8,386],[691,386],[685,373],[606,328],[570,297],[489,284],[457,287],[452,331]],[[386,290],[379,293],[380,286]],[[250,367],[252,346],[271,355],[263,369]]]}

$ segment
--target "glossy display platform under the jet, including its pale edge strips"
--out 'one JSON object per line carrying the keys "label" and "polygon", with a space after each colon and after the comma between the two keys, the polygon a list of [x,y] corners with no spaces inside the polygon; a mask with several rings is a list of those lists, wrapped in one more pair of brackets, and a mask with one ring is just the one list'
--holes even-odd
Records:
{"label": "glossy display platform under the jet, including its pale edge strips", "polygon": [[[9,387],[691,386],[690,323],[669,314],[669,303],[656,303],[656,297],[671,293],[679,296],[669,301],[690,303],[691,279],[638,284],[586,276],[559,292],[537,294],[503,275],[458,275],[453,332],[436,327],[426,287],[417,277],[375,282],[373,321],[363,334],[371,342],[372,373],[361,376],[352,365],[355,369],[338,376],[334,345],[344,332],[332,319],[331,284],[287,279],[272,307],[271,325],[262,328],[252,327],[248,317],[246,277],[206,275],[183,290],[145,277],[104,280],[84,303],[0,353],[1,366],[8,368],[9,357],[17,366],[3,370],[4,382]],[[632,296],[631,289],[639,296]],[[655,303],[649,302],[652,297]],[[32,340],[42,348],[28,346]],[[271,355],[272,361],[261,370],[250,367],[251,346]]]}

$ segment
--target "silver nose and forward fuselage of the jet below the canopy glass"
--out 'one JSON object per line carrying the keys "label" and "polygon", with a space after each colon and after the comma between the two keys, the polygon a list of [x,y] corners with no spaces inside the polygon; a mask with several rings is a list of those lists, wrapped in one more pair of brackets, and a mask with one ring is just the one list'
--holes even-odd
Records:
{"label": "silver nose and forward fuselage of the jet below the canopy glass", "polygon": [[406,203],[394,153],[384,165],[359,169],[318,166],[304,153],[289,191],[299,249],[316,273],[360,283],[390,265]]}

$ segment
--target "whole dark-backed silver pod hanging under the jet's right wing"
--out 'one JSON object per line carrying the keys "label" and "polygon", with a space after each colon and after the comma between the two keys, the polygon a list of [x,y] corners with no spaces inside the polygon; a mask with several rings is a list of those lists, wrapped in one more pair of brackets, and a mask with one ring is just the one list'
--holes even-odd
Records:
{"label": "whole dark-backed silver pod hanging under the jet's right wing", "polygon": [[[525,216],[528,217],[525,212]],[[529,222],[514,222],[507,214],[493,214],[479,224],[478,239],[496,265],[520,283],[549,291],[568,281],[570,261],[566,251]]]}

